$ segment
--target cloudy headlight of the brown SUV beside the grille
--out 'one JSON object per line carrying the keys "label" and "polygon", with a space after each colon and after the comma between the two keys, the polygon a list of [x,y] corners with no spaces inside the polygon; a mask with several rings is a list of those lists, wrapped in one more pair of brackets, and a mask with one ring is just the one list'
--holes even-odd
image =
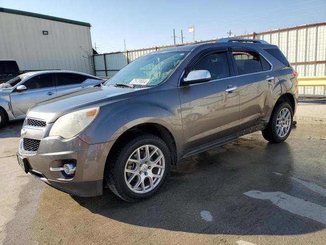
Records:
{"label": "cloudy headlight of the brown SUV beside the grille", "polygon": [[96,118],[99,108],[88,108],[70,112],[59,117],[53,124],[49,136],[61,136],[69,139],[82,132]]}

